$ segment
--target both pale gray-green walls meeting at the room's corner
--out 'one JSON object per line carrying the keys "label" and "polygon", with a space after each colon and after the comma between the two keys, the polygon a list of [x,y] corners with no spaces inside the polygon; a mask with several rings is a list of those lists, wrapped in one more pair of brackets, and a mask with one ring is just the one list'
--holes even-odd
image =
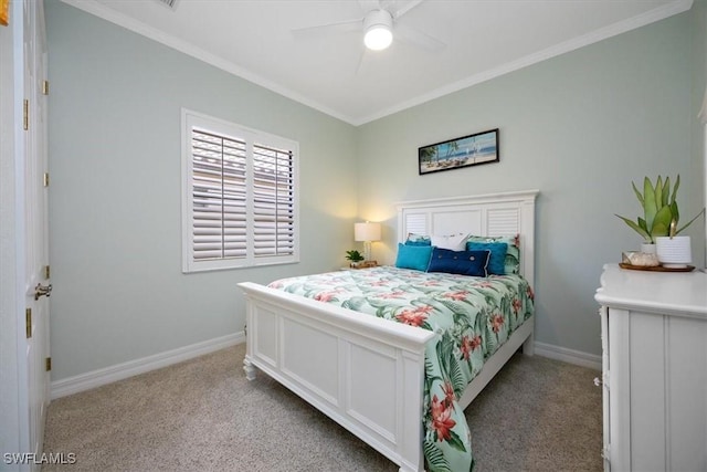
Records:
{"label": "both pale gray-green walls meeting at the room's corner", "polygon": [[[338,268],[355,220],[384,221],[373,255],[394,261],[397,201],[530,188],[537,340],[599,354],[601,266],[640,243],[613,216],[637,214],[631,181],[679,172],[684,214],[704,204],[700,21],[686,12],[354,128],[48,0],[53,379],[241,331],[235,283]],[[182,106],[299,141],[302,263],[181,274]],[[418,176],[419,146],[494,127],[500,162]],[[699,224],[689,234],[705,240]]]}

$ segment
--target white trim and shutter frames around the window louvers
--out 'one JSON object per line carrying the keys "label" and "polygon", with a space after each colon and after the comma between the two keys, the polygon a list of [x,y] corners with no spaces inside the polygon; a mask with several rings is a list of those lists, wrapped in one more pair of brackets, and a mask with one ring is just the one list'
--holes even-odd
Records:
{"label": "white trim and shutter frames around the window louvers", "polygon": [[[252,156],[253,143],[272,146],[293,151],[293,188],[294,188],[294,251],[289,255],[255,256],[253,245],[253,201],[246,201],[246,240],[249,241],[246,256],[240,259],[220,259],[196,261],[193,258],[193,188],[192,188],[192,127],[202,127],[217,134],[243,138],[249,154]],[[299,144],[292,139],[260,132],[242,125],[214,118],[187,108],[181,109],[181,219],[182,219],[182,272],[204,272],[228,269],[254,268],[262,265],[291,264],[299,262]],[[253,191],[253,170],[247,166],[246,188]]]}

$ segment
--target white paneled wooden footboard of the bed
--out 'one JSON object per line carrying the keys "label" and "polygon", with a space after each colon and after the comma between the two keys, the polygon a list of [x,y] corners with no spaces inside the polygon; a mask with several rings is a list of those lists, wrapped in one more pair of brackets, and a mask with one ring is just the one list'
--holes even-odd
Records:
{"label": "white paneled wooden footboard of the bed", "polygon": [[273,377],[401,471],[423,471],[424,347],[434,333],[245,282],[246,377]]}

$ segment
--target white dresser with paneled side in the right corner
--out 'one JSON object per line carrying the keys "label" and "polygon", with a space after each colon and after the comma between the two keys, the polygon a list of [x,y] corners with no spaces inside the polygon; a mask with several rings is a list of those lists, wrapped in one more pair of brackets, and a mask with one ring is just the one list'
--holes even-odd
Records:
{"label": "white dresser with paneled side in the right corner", "polygon": [[604,470],[707,471],[707,274],[608,264]]}

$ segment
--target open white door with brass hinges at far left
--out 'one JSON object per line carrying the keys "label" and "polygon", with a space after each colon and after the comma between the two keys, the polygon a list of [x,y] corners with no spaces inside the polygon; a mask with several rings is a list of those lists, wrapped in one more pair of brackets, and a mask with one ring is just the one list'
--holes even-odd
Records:
{"label": "open white door with brass hinges at far left", "polygon": [[[46,146],[46,38],[43,2],[25,0],[24,7],[24,283],[27,398],[30,451],[42,453],[49,406],[49,241]],[[19,254],[18,254],[19,256]],[[21,344],[20,344],[21,345]],[[33,468],[38,469],[38,468]]]}

